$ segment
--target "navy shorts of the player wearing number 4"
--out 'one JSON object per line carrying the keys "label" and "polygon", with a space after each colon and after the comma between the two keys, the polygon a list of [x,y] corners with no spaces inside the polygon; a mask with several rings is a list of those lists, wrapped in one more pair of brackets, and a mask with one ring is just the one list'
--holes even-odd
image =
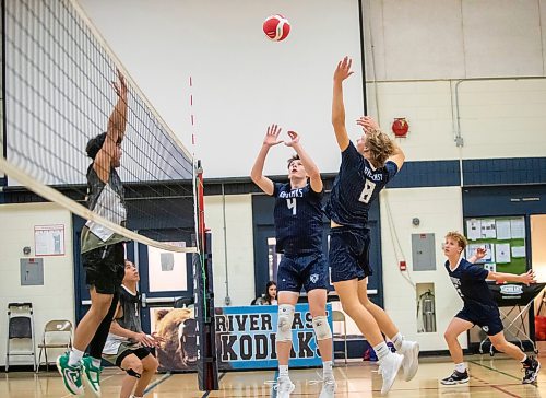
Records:
{"label": "navy shorts of the player wearing number 4", "polygon": [[328,264],[324,255],[287,255],[283,256],[278,265],[276,276],[277,290],[280,292],[301,291],[306,292],[313,289],[328,289]]}

